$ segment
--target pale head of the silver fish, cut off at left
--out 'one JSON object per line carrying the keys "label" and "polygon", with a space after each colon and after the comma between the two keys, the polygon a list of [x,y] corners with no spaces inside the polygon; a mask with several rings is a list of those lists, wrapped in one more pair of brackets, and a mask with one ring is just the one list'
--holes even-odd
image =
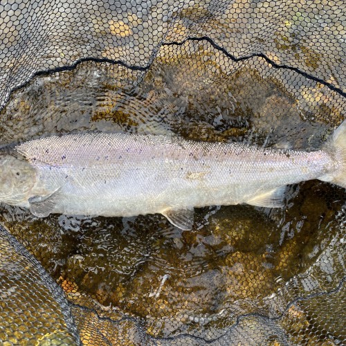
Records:
{"label": "pale head of the silver fish, cut off at left", "polygon": [[35,168],[21,155],[0,152],[0,201],[20,205],[35,185]]}

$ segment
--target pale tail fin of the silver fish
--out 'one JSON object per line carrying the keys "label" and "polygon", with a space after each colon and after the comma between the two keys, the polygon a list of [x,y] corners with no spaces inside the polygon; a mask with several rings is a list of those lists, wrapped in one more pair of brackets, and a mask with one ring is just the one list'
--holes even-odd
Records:
{"label": "pale tail fin of the silver fish", "polygon": [[346,188],[346,120],[334,131],[324,148],[339,163],[339,169],[329,176],[329,181]]}

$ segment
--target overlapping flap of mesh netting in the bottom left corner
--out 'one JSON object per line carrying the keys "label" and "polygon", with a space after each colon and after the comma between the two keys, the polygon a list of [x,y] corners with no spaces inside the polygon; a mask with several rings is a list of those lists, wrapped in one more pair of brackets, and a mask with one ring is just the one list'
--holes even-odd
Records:
{"label": "overlapping flap of mesh netting in the bottom left corner", "polygon": [[66,345],[79,340],[62,288],[24,246],[0,228],[3,345]]}

